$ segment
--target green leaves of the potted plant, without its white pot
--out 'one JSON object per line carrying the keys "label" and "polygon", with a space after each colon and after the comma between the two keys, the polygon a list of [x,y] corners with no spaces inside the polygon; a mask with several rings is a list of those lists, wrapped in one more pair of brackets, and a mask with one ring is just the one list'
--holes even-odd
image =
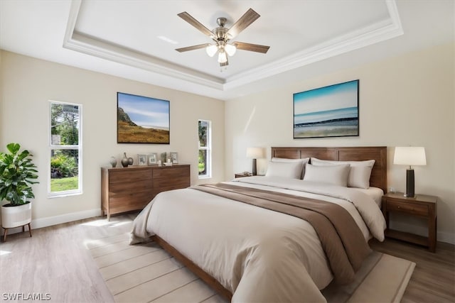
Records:
{"label": "green leaves of the potted plant, without its white pot", "polygon": [[39,183],[38,170],[33,164],[28,150],[20,152],[21,145],[9,143],[6,145],[9,153],[0,153],[0,201],[9,202],[5,206],[18,206],[28,203],[34,198],[31,184]]}

